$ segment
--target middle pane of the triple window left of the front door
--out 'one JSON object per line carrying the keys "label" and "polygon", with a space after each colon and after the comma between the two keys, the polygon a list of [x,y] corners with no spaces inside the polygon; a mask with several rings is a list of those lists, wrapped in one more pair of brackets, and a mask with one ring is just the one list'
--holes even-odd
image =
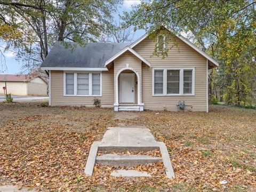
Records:
{"label": "middle pane of the triple window left of the front door", "polygon": [[89,74],[77,74],[77,94],[89,95]]}

